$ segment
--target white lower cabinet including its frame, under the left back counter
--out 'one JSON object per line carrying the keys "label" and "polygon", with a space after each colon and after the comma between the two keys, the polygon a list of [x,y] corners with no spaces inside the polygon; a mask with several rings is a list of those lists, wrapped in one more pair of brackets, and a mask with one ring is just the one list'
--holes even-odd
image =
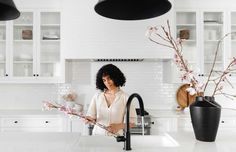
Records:
{"label": "white lower cabinet including its frame, under the left back counter", "polygon": [[2,132],[63,132],[67,131],[67,119],[52,116],[3,116],[0,118]]}

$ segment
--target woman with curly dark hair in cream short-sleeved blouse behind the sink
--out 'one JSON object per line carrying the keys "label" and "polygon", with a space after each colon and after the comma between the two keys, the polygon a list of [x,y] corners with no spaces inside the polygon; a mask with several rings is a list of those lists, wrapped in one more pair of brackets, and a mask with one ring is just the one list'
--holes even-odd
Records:
{"label": "woman with curly dark hair in cream short-sleeved blouse behind the sink", "polygon": [[[87,119],[107,126],[107,129],[118,135],[123,135],[125,128],[124,116],[128,95],[120,87],[124,86],[124,74],[113,64],[107,64],[99,69],[96,76],[96,93],[88,108]],[[130,108],[130,126],[134,126],[136,112],[134,106]],[[93,135],[109,135],[109,133],[94,126]]]}

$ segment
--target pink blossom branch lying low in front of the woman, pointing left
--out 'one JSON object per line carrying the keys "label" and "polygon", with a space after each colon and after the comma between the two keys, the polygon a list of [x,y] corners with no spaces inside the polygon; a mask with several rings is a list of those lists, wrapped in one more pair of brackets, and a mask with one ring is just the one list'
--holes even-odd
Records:
{"label": "pink blossom branch lying low in front of the woman, pointing left", "polygon": [[44,103],[43,104],[43,110],[57,109],[57,110],[59,110],[61,112],[64,112],[64,113],[66,113],[68,115],[77,116],[79,118],[87,120],[87,121],[89,121],[89,123],[91,123],[93,125],[96,125],[96,126],[102,128],[102,129],[106,130],[107,132],[111,133],[111,135],[114,136],[114,137],[118,136],[117,134],[114,134],[111,131],[109,131],[105,125],[97,123],[96,121],[88,119],[82,113],[77,113],[76,110],[74,110],[73,108],[69,108],[69,107],[66,107],[66,106],[58,104],[58,103],[51,103],[51,102],[48,102],[48,101],[44,101],[43,103]]}

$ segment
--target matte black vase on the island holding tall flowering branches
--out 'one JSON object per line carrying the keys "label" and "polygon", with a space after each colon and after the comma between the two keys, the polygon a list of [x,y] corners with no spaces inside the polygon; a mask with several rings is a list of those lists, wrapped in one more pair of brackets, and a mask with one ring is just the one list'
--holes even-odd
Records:
{"label": "matte black vase on the island holding tall flowering branches", "polygon": [[190,105],[190,115],[197,140],[206,142],[215,141],[220,114],[221,106],[215,102],[214,97],[196,97],[195,102]]}

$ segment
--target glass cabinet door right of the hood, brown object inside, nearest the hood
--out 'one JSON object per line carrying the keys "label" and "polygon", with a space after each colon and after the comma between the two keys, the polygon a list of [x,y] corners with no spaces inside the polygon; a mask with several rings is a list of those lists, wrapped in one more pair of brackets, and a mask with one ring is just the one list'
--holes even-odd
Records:
{"label": "glass cabinet door right of the hood, brown object inside, nearest the hood", "polygon": [[197,63],[196,12],[176,12],[176,37],[182,39],[183,54],[189,67],[196,70]]}

